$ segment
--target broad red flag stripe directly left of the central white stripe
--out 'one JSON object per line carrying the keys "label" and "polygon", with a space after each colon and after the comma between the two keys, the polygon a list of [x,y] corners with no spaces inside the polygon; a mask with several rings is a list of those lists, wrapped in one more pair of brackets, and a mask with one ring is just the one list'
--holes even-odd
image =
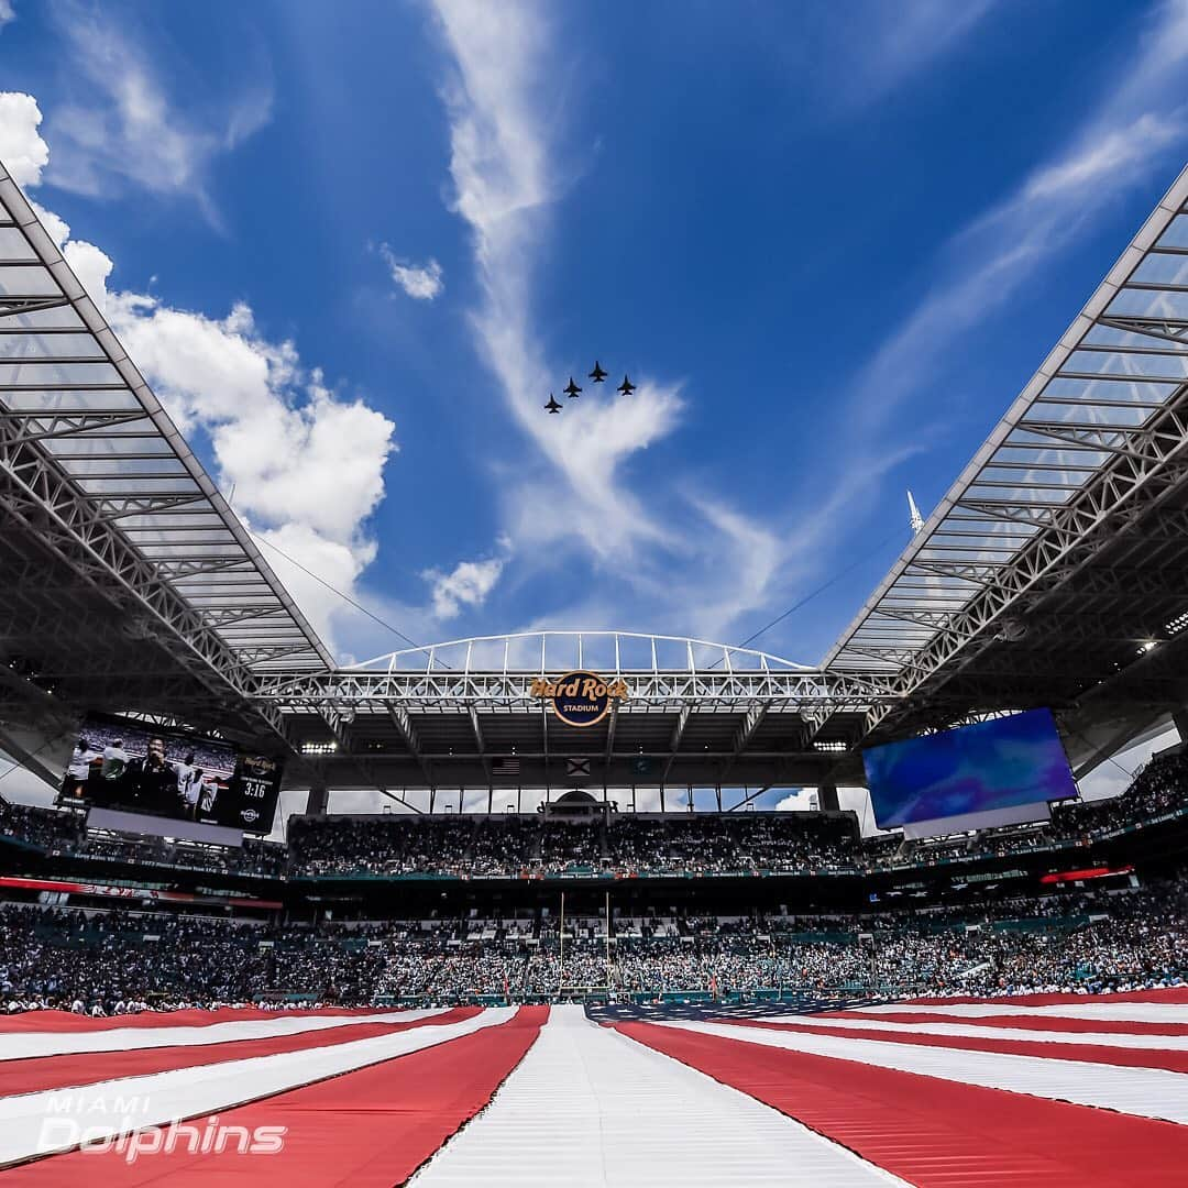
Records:
{"label": "broad red flag stripe directly left of the central white stripe", "polygon": [[[546,1006],[523,1006],[516,1017],[436,1048],[397,1056],[316,1085],[219,1114],[227,1126],[284,1126],[276,1155],[171,1154],[129,1163],[118,1151],[74,1151],[5,1174],[19,1188],[102,1183],[105,1188],[391,1188],[404,1183],[489,1101],[524,1059],[548,1018]],[[213,1116],[211,1116],[213,1117]],[[194,1119],[200,1130],[210,1117]],[[159,1132],[162,1137],[168,1132]],[[558,1142],[563,1135],[556,1136]]]}

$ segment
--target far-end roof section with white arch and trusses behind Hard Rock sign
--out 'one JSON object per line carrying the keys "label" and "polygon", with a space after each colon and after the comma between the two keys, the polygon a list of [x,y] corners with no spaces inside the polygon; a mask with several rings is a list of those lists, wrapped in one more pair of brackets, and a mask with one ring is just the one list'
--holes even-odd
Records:
{"label": "far-end roof section with white arch and trusses behind Hard Rock sign", "polygon": [[[627,697],[590,728],[532,695],[538,676],[584,669]],[[823,672],[701,639],[536,631],[390,652],[330,672],[261,678],[258,699],[317,756],[329,786],[549,786],[583,760],[604,784],[762,786],[819,782],[886,682]],[[823,726],[829,740],[819,739]]]}

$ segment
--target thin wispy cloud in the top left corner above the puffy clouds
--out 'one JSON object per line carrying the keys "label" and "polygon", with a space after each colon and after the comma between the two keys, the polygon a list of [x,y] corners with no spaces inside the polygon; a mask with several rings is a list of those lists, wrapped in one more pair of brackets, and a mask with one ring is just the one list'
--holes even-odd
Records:
{"label": "thin wispy cloud in the top left corner above the puffy clouds", "polygon": [[127,183],[192,197],[217,222],[209,165],[268,121],[271,88],[257,77],[229,101],[220,87],[183,110],[171,103],[154,55],[126,26],[118,30],[100,11],[67,0],[55,13],[69,97],[49,115],[49,181],[93,197],[119,195]]}

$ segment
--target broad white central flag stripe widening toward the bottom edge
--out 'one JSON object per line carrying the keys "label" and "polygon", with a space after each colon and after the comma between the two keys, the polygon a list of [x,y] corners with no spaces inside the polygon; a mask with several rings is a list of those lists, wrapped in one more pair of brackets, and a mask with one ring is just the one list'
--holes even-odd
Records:
{"label": "broad white central flag stripe widening toward the bottom edge", "polygon": [[903,1184],[729,1086],[555,1006],[494,1101],[415,1188]]}

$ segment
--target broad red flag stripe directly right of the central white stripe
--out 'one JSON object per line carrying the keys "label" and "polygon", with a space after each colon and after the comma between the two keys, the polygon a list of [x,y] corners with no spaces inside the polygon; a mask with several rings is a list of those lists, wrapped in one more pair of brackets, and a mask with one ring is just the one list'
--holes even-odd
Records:
{"label": "broad red flag stripe directly right of the central white stripe", "polygon": [[618,1030],[779,1110],[920,1188],[1173,1188],[1188,1130],[701,1032]]}

